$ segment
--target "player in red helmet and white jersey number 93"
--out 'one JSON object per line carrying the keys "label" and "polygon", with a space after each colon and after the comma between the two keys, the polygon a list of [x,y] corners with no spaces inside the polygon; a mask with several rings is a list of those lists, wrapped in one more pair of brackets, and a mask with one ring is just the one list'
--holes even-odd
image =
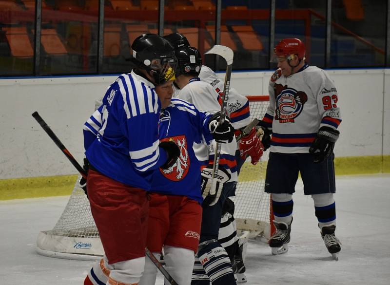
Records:
{"label": "player in red helmet and white jersey number 93", "polygon": [[[272,193],[276,233],[273,254],[288,250],[292,193],[300,172],[305,195],[312,195],[315,216],[328,251],[337,259],[333,147],[341,122],[338,94],[328,74],[305,62],[300,39],[286,38],[274,49],[278,69],[269,84],[270,104],[260,122],[270,149],[265,191]],[[272,136],[271,136],[272,135]]]}

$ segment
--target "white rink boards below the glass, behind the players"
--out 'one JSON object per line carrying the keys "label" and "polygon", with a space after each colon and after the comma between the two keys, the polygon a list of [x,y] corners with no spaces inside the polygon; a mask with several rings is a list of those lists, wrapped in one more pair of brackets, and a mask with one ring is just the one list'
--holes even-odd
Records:
{"label": "white rink boards below the glass, behind the players", "polygon": [[[356,168],[389,169],[390,71],[327,70],[334,79],[343,122],[335,155]],[[244,95],[268,94],[272,72],[235,72],[232,84]],[[224,76],[223,73],[220,74]],[[81,162],[82,126],[95,100],[117,76],[64,76],[0,79],[0,179],[74,175],[74,167],[40,128],[39,114]],[[345,165],[343,166],[345,167]],[[347,171],[348,173],[348,171]]]}

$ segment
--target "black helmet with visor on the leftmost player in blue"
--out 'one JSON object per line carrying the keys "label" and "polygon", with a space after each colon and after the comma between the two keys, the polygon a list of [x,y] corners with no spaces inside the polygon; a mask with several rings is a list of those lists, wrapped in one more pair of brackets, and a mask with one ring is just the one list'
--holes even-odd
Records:
{"label": "black helmet with visor on the leftmost player in blue", "polygon": [[174,76],[169,71],[177,68],[177,59],[173,45],[155,34],[143,34],[131,45],[133,57],[130,59],[137,68],[144,69],[153,77],[155,85],[167,82]]}

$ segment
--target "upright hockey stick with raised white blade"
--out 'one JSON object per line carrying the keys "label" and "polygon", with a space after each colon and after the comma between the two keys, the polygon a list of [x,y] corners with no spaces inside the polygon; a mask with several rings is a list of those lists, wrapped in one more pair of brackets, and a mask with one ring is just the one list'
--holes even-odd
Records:
{"label": "upright hockey stick with raised white blade", "polygon": [[[220,57],[223,57],[227,63],[225,82],[223,84],[221,116],[219,118],[219,124],[221,125],[226,117],[226,106],[228,104],[228,99],[229,99],[230,76],[232,75],[234,53],[233,53],[232,49],[228,48],[227,46],[216,44],[210,50],[205,52],[205,55],[209,55],[209,54],[214,54],[214,55],[218,55]],[[215,195],[215,191],[216,191],[216,179],[215,178],[217,177],[217,174],[218,174],[220,154],[221,154],[221,143],[216,142],[215,154],[214,154],[214,165],[213,165],[213,178],[211,180],[211,188],[210,188],[211,195]]]}

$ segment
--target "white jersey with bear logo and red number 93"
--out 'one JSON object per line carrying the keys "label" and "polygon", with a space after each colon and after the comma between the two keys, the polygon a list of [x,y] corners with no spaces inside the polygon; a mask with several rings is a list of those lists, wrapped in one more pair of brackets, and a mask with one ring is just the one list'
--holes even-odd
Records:
{"label": "white jersey with bear logo and red number 93", "polygon": [[269,83],[270,104],[263,121],[272,128],[271,152],[306,153],[320,127],[341,122],[333,80],[316,66],[291,76],[278,69]]}

